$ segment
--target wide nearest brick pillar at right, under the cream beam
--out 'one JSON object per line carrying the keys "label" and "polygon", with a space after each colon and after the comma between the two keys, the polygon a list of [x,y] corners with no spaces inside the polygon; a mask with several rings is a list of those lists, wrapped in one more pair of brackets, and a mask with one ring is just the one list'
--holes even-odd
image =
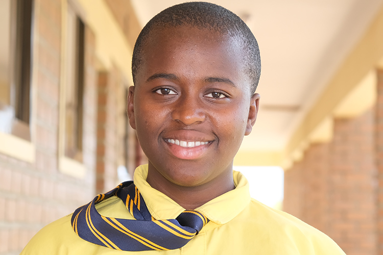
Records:
{"label": "wide nearest brick pillar at right, under the cream beam", "polygon": [[376,254],[374,110],[336,119],[331,142],[329,232],[347,254]]}

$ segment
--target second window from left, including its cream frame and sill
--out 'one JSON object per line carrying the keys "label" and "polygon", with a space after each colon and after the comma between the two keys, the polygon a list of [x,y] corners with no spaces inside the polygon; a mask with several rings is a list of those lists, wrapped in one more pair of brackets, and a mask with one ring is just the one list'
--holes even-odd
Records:
{"label": "second window from left, including its cream frame and sill", "polygon": [[83,179],[84,12],[75,0],[61,3],[59,170]]}

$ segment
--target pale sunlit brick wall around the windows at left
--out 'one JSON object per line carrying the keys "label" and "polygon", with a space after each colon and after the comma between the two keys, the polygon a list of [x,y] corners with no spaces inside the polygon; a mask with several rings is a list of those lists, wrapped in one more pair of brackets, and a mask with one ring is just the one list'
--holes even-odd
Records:
{"label": "pale sunlit brick wall around the windows at left", "polygon": [[[35,1],[38,63],[32,86],[36,161],[34,164],[0,154],[0,254],[19,254],[41,227],[60,218],[94,195],[95,69],[94,37],[86,30],[84,95],[85,180],[58,169],[58,125],[61,50],[61,1]],[[36,57],[36,56],[35,56]]]}

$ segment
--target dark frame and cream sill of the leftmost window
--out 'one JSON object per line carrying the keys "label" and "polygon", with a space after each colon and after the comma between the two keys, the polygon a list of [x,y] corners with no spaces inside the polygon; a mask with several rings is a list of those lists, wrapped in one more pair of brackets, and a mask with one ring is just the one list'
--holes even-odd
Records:
{"label": "dark frame and cream sill of the leftmost window", "polygon": [[35,57],[37,43],[34,37],[37,25],[34,18],[35,1],[23,1],[26,5],[21,1],[10,1],[9,97],[5,107],[12,111],[12,116],[8,119],[8,127],[0,131],[0,153],[33,163],[36,152],[32,142],[34,138],[32,110],[35,104],[32,93],[37,78],[34,68],[38,61]]}

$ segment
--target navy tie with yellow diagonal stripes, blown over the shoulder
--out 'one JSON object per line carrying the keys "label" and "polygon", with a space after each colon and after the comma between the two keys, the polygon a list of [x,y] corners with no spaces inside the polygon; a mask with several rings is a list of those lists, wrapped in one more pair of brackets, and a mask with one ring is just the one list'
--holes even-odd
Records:
{"label": "navy tie with yellow diagonal stripes, blown over the shoulder", "polygon": [[[135,220],[100,215],[94,205],[118,196]],[[192,240],[209,220],[197,211],[184,211],[177,219],[155,220],[132,181],[97,195],[73,213],[71,224],[82,239],[116,250],[171,250]]]}

